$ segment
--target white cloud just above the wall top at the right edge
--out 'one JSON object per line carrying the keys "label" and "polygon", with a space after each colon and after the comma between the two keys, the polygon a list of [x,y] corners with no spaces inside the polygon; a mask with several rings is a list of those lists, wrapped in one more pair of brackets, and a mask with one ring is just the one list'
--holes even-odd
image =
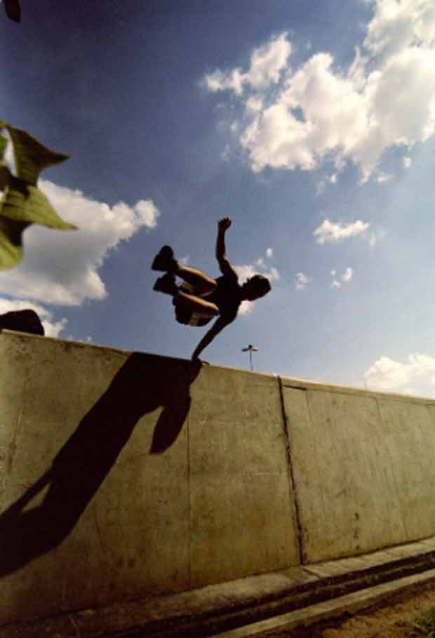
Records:
{"label": "white cloud just above the wall top at the right edge", "polygon": [[366,385],[373,390],[435,396],[435,358],[427,354],[408,354],[401,363],[380,357],[364,373]]}

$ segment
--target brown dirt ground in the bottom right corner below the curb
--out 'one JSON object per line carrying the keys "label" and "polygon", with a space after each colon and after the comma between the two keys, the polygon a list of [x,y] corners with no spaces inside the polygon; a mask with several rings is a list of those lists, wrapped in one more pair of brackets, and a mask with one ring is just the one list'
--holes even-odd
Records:
{"label": "brown dirt ground in the bottom right corner below the curb", "polygon": [[[415,616],[435,608],[435,585],[429,585],[391,601],[389,606],[368,609],[356,616],[326,621],[304,629],[267,633],[267,638],[410,638]],[[429,635],[429,634],[427,634]]]}

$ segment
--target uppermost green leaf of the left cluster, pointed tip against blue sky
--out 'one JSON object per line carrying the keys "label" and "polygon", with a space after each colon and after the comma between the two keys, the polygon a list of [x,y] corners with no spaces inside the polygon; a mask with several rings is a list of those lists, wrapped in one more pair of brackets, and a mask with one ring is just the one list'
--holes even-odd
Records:
{"label": "uppermost green leaf of the left cluster, pointed tip against blue sky", "polygon": [[36,186],[39,173],[44,168],[60,164],[69,157],[69,155],[64,153],[58,153],[46,148],[27,131],[8,125],[6,125],[6,128],[11,135],[13,143],[17,176],[32,186]]}

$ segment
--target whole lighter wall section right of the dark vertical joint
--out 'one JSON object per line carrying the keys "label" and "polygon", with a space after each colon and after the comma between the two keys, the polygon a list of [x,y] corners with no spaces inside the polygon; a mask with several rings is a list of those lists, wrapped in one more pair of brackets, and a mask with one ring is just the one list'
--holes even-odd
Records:
{"label": "whole lighter wall section right of the dark vertical joint", "polygon": [[283,379],[305,563],[435,531],[434,401]]}

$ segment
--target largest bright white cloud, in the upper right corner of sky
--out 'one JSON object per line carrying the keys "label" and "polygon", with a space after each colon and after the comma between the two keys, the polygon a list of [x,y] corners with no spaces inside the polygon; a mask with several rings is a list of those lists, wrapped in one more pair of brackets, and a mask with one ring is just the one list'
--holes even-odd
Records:
{"label": "largest bright white cloud, in the upper right corner of sky", "polygon": [[[348,69],[338,69],[328,52],[290,69],[283,33],[253,52],[246,74],[208,76],[210,90],[231,88],[243,100],[248,123],[240,142],[253,171],[311,171],[332,159],[337,169],[352,161],[366,181],[386,149],[434,135],[434,2],[376,0],[373,8]],[[255,88],[254,98],[244,88]]]}

